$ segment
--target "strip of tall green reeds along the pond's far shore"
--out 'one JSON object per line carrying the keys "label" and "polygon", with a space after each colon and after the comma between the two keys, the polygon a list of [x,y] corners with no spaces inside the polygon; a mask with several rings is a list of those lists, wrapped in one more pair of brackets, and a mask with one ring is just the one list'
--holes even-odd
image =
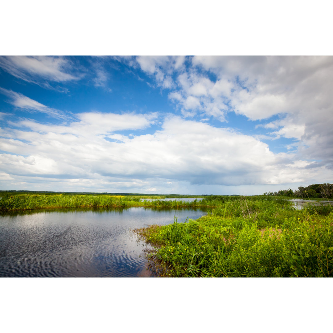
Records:
{"label": "strip of tall green reeds along the pond's far shore", "polygon": [[[279,202],[280,204],[284,199],[283,197],[271,197],[266,195],[254,196],[257,200],[254,203],[251,196],[246,197],[249,206],[246,207],[246,202],[239,200],[240,196],[197,196],[202,200],[186,201],[186,200],[162,200],[168,198],[170,195],[154,195],[154,196],[141,196],[141,195],[110,195],[110,194],[79,194],[79,193],[21,193],[19,191],[0,191],[0,211],[12,210],[28,210],[28,209],[47,209],[47,208],[78,208],[78,207],[114,207],[114,208],[127,208],[134,206],[156,207],[156,208],[190,208],[190,207],[216,207],[220,209],[221,216],[236,216],[240,211],[244,213],[244,209],[249,209],[257,213],[257,205],[262,202]],[[175,197],[194,197],[192,195],[177,195]],[[146,199],[154,200],[146,200]],[[141,201],[143,199],[143,201]],[[290,199],[290,197],[288,197]],[[273,200],[273,201],[272,201]],[[242,203],[243,202],[243,203]],[[221,203],[224,203],[221,205]],[[284,203],[286,204],[286,203]],[[290,204],[289,204],[290,205]],[[267,204],[265,206],[268,209]],[[270,208],[272,209],[272,207]],[[224,210],[224,212],[222,211]],[[237,212],[237,213],[236,213]],[[231,215],[230,215],[231,214]]]}

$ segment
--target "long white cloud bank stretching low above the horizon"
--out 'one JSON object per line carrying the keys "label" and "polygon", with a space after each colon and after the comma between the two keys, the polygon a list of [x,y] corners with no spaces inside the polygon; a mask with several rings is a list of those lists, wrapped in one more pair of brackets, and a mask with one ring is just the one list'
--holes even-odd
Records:
{"label": "long white cloud bank stretching low above the horizon", "polygon": [[0,155],[0,171],[82,184],[87,179],[94,188],[112,180],[114,186],[119,182],[117,188],[135,183],[136,188],[158,189],[156,183],[171,186],[179,180],[197,185],[290,183],[323,170],[308,161],[296,163],[294,154],[274,154],[251,136],[172,115],[154,134],[134,136],[114,132],[146,128],[156,115],[84,113],[78,118],[70,126],[25,120],[16,124],[21,130],[7,129],[0,150],[11,154]]}

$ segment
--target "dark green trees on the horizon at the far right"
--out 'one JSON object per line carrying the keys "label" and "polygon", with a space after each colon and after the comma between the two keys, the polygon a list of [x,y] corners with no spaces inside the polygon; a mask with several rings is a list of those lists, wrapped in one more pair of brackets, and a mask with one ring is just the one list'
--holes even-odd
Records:
{"label": "dark green trees on the horizon at the far right", "polygon": [[264,195],[276,196],[297,196],[301,198],[333,198],[333,184],[311,184],[306,187],[299,186],[293,191],[289,189],[280,189],[277,192],[265,192]]}

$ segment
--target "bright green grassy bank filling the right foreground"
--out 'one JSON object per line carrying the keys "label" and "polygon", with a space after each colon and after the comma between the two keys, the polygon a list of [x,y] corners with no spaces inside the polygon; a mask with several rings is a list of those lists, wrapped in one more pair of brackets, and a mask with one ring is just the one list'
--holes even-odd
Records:
{"label": "bright green grassy bank filling the right foreground", "polygon": [[160,276],[332,277],[332,207],[263,197],[210,197],[211,213],[138,229]]}

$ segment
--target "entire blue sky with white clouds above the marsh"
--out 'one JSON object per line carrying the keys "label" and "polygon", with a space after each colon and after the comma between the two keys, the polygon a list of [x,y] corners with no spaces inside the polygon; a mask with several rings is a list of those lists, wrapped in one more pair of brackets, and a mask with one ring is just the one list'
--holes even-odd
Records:
{"label": "entire blue sky with white clouds above the marsh", "polygon": [[331,56],[1,56],[0,188],[333,182]]}

